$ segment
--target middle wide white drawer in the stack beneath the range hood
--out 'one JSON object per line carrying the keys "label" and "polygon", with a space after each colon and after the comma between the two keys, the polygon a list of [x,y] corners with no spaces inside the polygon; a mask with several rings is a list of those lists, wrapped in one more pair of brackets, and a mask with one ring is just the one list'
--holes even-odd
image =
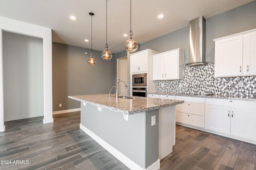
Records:
{"label": "middle wide white drawer in the stack beneath the range hood", "polygon": [[184,102],[176,105],[176,111],[204,116],[204,104]]}

